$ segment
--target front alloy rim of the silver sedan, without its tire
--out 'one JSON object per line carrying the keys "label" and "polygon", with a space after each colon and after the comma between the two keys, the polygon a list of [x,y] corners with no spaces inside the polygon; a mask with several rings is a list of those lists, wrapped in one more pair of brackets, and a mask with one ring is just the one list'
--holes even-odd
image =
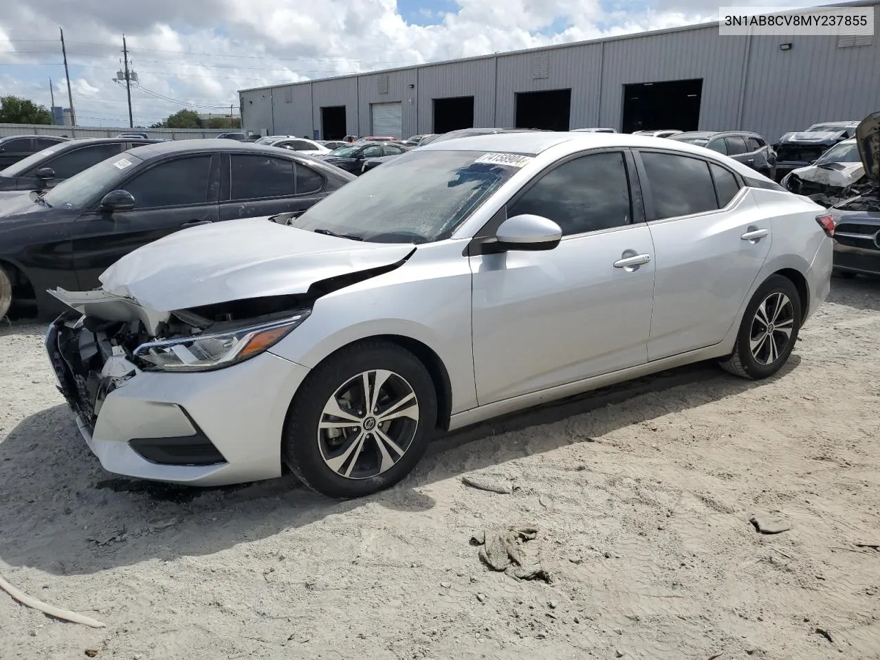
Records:
{"label": "front alloy rim of the silver sedan, without its tire", "polygon": [[407,380],[389,370],[349,378],[327,400],[318,447],[334,473],[370,479],[403,458],[419,423],[419,401]]}

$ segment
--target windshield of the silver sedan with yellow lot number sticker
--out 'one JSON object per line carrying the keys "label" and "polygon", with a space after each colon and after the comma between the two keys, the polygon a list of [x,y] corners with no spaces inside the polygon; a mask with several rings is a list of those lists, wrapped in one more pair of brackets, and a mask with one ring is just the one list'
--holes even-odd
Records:
{"label": "windshield of the silver sedan with yellow lot number sticker", "polygon": [[481,151],[410,151],[347,183],[291,226],[375,243],[448,238],[517,167],[475,162]]}

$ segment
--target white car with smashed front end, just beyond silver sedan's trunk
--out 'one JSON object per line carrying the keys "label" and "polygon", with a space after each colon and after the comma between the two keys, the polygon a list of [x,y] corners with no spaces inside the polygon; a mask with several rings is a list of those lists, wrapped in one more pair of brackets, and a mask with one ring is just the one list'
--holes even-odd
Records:
{"label": "white car with smashed front end, just beyond silver sedan's trunk", "polygon": [[803,194],[825,207],[872,187],[854,139],[835,144],[812,165],[788,172],[780,183],[789,192]]}

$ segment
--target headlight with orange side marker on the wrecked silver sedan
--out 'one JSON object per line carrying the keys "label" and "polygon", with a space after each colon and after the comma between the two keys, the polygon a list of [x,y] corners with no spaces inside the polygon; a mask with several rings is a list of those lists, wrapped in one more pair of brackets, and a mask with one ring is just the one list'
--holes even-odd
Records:
{"label": "headlight with orange side marker on the wrecked silver sedan", "polygon": [[208,371],[222,369],[259,356],[281,341],[309,316],[304,310],[296,316],[262,326],[201,334],[166,341],[151,341],[135,349],[134,356],[147,371]]}

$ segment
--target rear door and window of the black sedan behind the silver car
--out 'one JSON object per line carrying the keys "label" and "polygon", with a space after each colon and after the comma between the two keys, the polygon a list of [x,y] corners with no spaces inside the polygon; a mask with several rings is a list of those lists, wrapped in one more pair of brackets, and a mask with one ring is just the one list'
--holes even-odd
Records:
{"label": "rear door and window of the black sedan behind the silver car", "polygon": [[293,158],[224,154],[220,220],[304,211],[325,196],[324,177]]}

